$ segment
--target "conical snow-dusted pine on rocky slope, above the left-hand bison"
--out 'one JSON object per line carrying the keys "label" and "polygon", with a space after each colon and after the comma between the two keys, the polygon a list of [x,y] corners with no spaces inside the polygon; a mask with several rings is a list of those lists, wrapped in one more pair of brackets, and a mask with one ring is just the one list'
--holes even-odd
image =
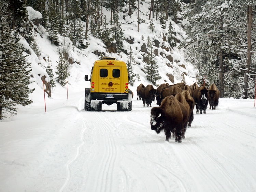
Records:
{"label": "conical snow-dusted pine on rocky slope, above the left-hand bison", "polygon": [[154,54],[154,48],[150,41],[150,38],[147,38],[147,47],[148,47],[148,61],[146,62],[144,68],[147,73],[147,80],[152,82],[153,85],[157,86],[156,82],[161,79],[160,74],[158,73],[158,65],[156,55]]}

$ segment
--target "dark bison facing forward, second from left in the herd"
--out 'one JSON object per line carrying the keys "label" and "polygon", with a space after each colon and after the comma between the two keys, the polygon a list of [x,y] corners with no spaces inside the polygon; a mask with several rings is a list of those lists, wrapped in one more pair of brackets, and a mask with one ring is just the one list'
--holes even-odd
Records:
{"label": "dark bison facing forward, second from left in the herd", "polygon": [[145,103],[147,107],[151,107],[152,101],[155,101],[156,97],[156,89],[154,89],[153,85],[147,85],[143,89],[141,89],[141,99],[143,101],[143,107],[145,107]]}

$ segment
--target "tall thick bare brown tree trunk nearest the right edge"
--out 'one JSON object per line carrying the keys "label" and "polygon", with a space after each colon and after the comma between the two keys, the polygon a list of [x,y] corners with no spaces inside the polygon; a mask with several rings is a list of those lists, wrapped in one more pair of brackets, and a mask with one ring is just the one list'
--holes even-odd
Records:
{"label": "tall thick bare brown tree trunk nearest the right edge", "polygon": [[252,5],[248,6],[247,10],[247,39],[248,39],[248,48],[246,54],[246,69],[244,71],[244,82],[243,82],[243,99],[247,99],[248,94],[248,77],[250,72],[251,66],[251,59],[252,59],[252,42],[251,42],[251,30],[252,30]]}

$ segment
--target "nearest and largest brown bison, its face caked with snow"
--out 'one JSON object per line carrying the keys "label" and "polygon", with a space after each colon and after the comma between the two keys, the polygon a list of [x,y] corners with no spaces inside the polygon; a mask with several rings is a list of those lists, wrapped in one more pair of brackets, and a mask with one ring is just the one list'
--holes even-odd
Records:
{"label": "nearest and largest brown bison, its face caked with snow", "polygon": [[166,141],[169,141],[172,132],[175,135],[175,141],[181,143],[188,115],[186,107],[177,98],[173,95],[168,96],[163,99],[160,107],[151,109],[151,130],[156,131],[157,134],[164,131]]}

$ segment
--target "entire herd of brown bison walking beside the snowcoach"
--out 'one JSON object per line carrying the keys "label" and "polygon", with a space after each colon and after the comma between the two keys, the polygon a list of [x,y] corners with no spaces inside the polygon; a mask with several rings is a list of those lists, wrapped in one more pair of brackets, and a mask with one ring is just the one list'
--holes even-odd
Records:
{"label": "entire herd of brown bison walking beside the snowcoach", "polygon": [[[215,84],[209,89],[204,85],[200,87],[194,83],[186,85],[185,83],[177,83],[169,85],[161,84],[157,89],[152,85],[140,84],[137,87],[137,100],[143,101],[147,107],[151,107],[151,103],[156,98],[156,104],[159,107],[151,109],[150,125],[151,129],[157,134],[161,131],[165,132],[166,141],[173,135],[176,142],[181,142],[185,138],[185,132],[194,119],[193,109],[196,105],[196,112],[200,114],[206,113],[209,102],[210,109],[216,109],[219,103],[219,90]],[[172,133],[172,135],[171,135]]]}

